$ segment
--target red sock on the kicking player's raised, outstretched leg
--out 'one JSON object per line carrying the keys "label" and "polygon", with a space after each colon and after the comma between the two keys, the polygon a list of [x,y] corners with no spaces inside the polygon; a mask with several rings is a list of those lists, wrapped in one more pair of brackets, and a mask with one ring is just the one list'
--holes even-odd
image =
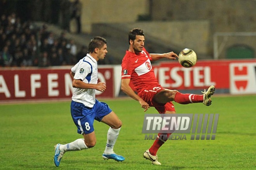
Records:
{"label": "red sock on the kicking player's raised, outstretched leg", "polygon": [[202,103],[204,101],[203,95],[182,94],[177,92],[174,101],[179,104]]}

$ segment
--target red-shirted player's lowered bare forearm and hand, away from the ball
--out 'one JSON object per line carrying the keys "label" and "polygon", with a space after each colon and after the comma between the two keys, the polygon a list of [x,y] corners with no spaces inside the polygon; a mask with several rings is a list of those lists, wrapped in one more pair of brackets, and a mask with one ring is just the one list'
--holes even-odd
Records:
{"label": "red-shirted player's lowered bare forearm and hand, away from the ball", "polygon": [[130,79],[129,78],[125,78],[122,79],[121,81],[121,90],[123,92],[125,92],[128,96],[130,96],[131,98],[133,98],[134,100],[137,100],[138,102],[140,102],[140,105],[145,111],[147,111],[147,109],[149,109],[149,104],[147,104],[147,102],[145,102],[144,100],[142,100],[129,86],[130,83]]}

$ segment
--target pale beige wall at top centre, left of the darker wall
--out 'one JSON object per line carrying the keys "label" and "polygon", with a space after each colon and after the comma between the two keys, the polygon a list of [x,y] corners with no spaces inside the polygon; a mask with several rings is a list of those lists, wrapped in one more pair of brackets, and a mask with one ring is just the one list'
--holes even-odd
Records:
{"label": "pale beige wall at top centre, left of the darker wall", "polygon": [[135,22],[138,15],[148,13],[147,0],[80,0],[82,31],[90,33],[92,24]]}

